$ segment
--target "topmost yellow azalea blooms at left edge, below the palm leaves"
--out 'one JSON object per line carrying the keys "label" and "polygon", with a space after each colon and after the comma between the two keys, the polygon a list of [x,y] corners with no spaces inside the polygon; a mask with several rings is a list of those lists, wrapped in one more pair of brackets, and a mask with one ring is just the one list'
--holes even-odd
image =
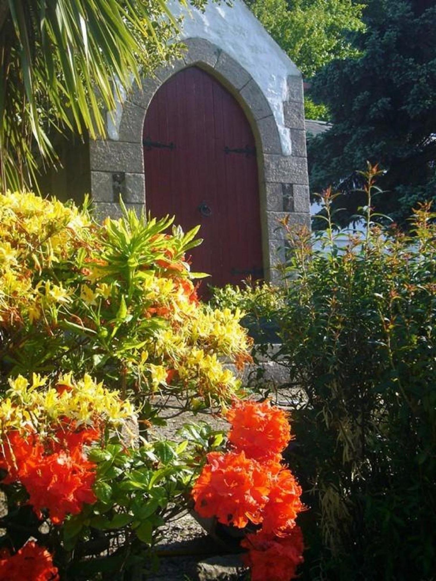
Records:
{"label": "topmost yellow azalea blooms at left edge, below the palm leaves", "polygon": [[69,302],[70,292],[36,274],[67,260],[90,226],[86,213],[29,192],[0,195],[0,327],[28,316],[38,320],[53,304]]}

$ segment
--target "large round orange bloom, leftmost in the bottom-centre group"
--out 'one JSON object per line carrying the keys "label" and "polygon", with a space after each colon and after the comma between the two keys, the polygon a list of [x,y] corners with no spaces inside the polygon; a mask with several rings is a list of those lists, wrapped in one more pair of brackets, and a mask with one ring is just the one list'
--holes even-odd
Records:
{"label": "large round orange bloom, leftmost in the bottom-centre group", "polygon": [[208,464],[197,479],[192,496],[201,517],[216,517],[224,525],[244,528],[249,521],[262,521],[268,500],[270,478],[244,452],[208,454]]}

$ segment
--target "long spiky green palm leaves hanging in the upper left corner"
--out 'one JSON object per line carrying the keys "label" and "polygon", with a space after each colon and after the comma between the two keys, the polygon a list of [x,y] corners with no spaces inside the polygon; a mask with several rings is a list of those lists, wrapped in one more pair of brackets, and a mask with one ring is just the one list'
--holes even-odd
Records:
{"label": "long spiky green palm leaves hanging in the upper left corner", "polygon": [[103,133],[102,109],[177,53],[176,30],[165,0],[0,0],[3,189],[56,159],[53,132]]}

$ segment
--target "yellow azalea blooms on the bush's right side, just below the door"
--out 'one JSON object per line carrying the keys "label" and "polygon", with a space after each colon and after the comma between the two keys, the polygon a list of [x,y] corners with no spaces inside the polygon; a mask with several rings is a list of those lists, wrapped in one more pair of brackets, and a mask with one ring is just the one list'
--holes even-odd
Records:
{"label": "yellow azalea blooms on the bush's right side, just below the door", "polygon": [[[194,285],[187,278],[162,277],[148,271],[142,277],[150,316],[166,320],[165,327],[145,342],[140,367],[149,373],[153,392],[174,378],[203,397],[227,400],[240,381],[224,367],[223,358],[238,367],[250,361],[252,340],[241,327],[239,309],[210,309],[193,298]],[[152,361],[149,353],[153,353]],[[170,378],[170,379],[169,379]]]}

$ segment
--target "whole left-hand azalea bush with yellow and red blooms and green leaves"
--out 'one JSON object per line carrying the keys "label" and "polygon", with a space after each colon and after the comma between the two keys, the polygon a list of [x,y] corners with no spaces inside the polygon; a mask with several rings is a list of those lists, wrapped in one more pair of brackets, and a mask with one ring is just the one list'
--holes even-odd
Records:
{"label": "whole left-hand azalea bush with yellow and red blooms and green leaves", "polygon": [[0,196],[5,571],[28,554],[47,579],[53,566],[115,579],[188,506],[222,440],[207,426],[182,443],[155,430],[169,401],[177,414],[236,397],[221,359],[250,360],[240,315],[196,297],[184,253],[198,229],[170,225],[126,211],[98,225],[56,200]]}

